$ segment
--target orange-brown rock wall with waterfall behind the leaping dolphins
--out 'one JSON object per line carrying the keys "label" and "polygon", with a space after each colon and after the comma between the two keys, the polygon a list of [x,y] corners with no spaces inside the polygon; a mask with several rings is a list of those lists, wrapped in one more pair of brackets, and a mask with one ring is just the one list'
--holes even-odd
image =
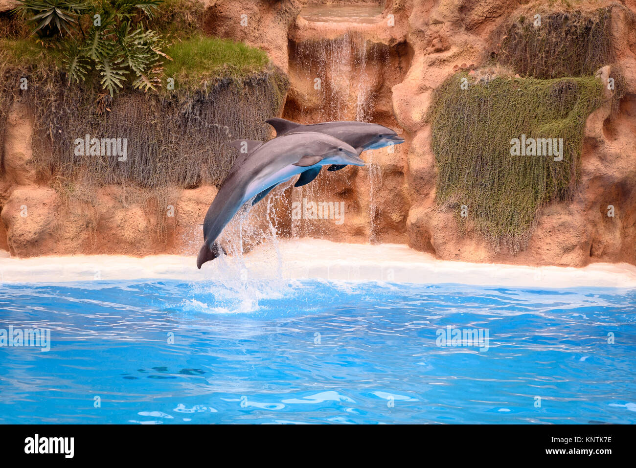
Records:
{"label": "orange-brown rock wall with waterfall behind the leaping dolphins", "polygon": [[[322,171],[312,184],[273,191],[265,200],[269,206],[261,202],[244,220],[244,226],[260,228],[251,244],[273,226],[284,236],[406,243],[441,259],[563,266],[593,261],[636,264],[636,0],[589,2],[590,8],[612,5],[611,39],[615,65],[627,78],[625,95],[614,113],[608,99],[588,118],[581,180],[574,197],[544,207],[527,249],[516,255],[504,249],[495,252],[474,231],[460,230],[455,212],[436,203],[436,159],[425,116],[433,91],[457,69],[483,63],[492,51],[495,33],[508,18],[532,13],[542,4],[387,0],[374,21],[359,23],[308,22],[298,17],[303,3],[207,0],[205,31],[268,52],[291,82],[284,117],[307,123],[336,118],[377,121],[396,128],[406,142],[392,152],[365,153],[366,167]],[[611,73],[607,68],[599,77],[606,81]],[[12,112],[21,111],[17,107]],[[95,206],[60,200],[55,191],[38,188],[43,182],[29,170],[25,121],[10,119],[4,138],[0,247],[17,256],[194,254],[198,250],[199,224],[215,188],[176,190],[174,216],[163,220],[141,205],[127,205],[121,187],[100,188]],[[342,224],[333,219],[296,219],[294,207],[302,207],[303,202],[343,203]],[[33,207],[27,217],[20,216],[23,205]],[[610,205],[613,217],[607,216]],[[36,212],[38,216],[31,216]],[[153,234],[158,223],[165,223],[164,237]]]}

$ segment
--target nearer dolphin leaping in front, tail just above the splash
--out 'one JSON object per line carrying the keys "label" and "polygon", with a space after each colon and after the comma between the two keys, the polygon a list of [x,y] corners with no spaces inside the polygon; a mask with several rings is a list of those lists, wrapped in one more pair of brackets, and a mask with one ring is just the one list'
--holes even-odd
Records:
{"label": "nearer dolphin leaping in front, tail just above the splash", "polygon": [[324,165],[364,166],[353,146],[318,132],[284,135],[265,143],[235,141],[232,146],[240,148],[239,157],[205,214],[198,268],[219,256],[223,249],[216,238],[247,200],[254,196],[261,200],[281,182],[303,172],[313,170],[317,174]]}

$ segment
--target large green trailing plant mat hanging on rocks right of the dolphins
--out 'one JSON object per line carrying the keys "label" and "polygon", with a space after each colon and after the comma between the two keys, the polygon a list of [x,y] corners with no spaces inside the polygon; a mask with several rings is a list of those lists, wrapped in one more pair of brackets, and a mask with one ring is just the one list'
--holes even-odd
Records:
{"label": "large green trailing plant mat hanging on rocks right of the dolphins", "polygon": [[[462,78],[468,88],[462,89]],[[527,245],[543,205],[565,200],[579,176],[586,118],[602,100],[599,80],[507,79],[478,83],[453,75],[434,93],[428,119],[439,166],[437,201],[471,221],[499,251]],[[511,140],[563,139],[563,160],[513,156]],[[467,205],[468,217],[460,216]]]}

